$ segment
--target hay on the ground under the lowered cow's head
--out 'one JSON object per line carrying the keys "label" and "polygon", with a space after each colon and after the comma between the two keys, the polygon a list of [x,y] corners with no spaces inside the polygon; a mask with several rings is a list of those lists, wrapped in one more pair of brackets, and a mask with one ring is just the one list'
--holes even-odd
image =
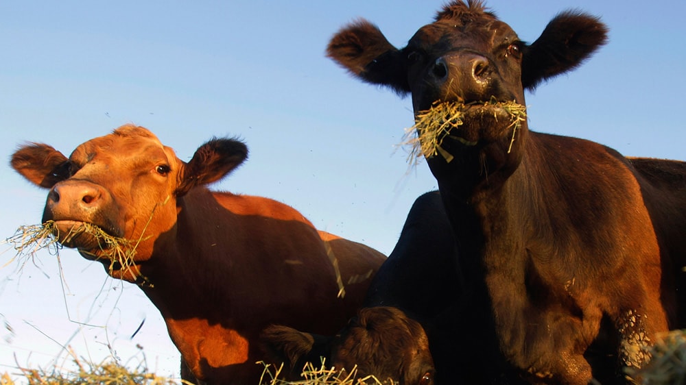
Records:
{"label": "hay on the ground under the lowered cow's head", "polygon": [[[303,373],[300,374],[303,380],[299,381],[287,381],[279,378],[283,364],[276,368],[263,361],[257,363],[264,365],[259,385],[395,385],[393,381],[381,382],[373,375],[357,378],[357,366],[350,372],[327,368],[324,359],[322,359],[322,366],[318,368],[314,367],[311,362],[305,364]],[[272,369],[274,369],[273,372]]]}

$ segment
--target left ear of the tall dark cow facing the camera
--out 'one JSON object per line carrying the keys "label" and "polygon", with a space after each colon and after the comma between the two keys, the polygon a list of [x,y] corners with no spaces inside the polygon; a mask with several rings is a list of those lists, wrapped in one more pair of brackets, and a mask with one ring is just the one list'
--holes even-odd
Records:
{"label": "left ear of the tall dark cow facing the camera", "polygon": [[401,95],[410,92],[401,51],[376,25],[360,19],[331,38],[327,56],[364,82],[388,86]]}

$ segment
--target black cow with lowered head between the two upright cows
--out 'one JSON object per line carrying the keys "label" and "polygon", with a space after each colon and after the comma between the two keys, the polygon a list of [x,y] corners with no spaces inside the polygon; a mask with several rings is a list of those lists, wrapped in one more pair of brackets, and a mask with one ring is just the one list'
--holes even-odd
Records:
{"label": "black cow with lowered head between the two upright cows", "polygon": [[[359,314],[334,336],[274,325],[263,332],[268,355],[295,379],[305,364],[327,362],[394,384],[450,383],[455,325],[445,314],[458,306],[456,244],[437,191],[418,197],[393,251],[370,284]],[[451,318],[447,318],[451,319]],[[437,359],[434,359],[437,358]],[[445,377],[441,378],[441,375]]]}

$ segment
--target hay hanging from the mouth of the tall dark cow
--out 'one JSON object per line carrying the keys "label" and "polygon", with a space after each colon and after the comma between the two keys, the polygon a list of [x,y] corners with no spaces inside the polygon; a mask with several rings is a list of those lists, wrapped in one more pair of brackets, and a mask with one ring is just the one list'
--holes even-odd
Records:
{"label": "hay hanging from the mouth of the tall dark cow", "polygon": [[[476,142],[469,142],[458,136],[451,136],[450,132],[457,129],[464,122],[464,114],[466,110],[474,108],[489,108],[499,107],[510,114],[511,123],[509,127],[514,126],[512,130],[512,140],[510,140],[510,148],[514,142],[514,133],[521,126],[521,123],[526,120],[526,107],[524,105],[515,103],[514,101],[497,101],[491,99],[484,102],[462,103],[462,102],[440,102],[437,101],[429,110],[419,112],[416,116],[415,123],[412,127],[405,129],[405,136],[403,136],[402,145],[410,145],[410,151],[407,156],[407,161],[410,166],[414,166],[421,158],[431,158],[440,154],[445,158],[446,162],[451,162],[453,156],[441,147],[443,139],[450,136],[456,140],[460,140],[465,145],[476,145]],[[414,136],[417,133],[416,137]]]}

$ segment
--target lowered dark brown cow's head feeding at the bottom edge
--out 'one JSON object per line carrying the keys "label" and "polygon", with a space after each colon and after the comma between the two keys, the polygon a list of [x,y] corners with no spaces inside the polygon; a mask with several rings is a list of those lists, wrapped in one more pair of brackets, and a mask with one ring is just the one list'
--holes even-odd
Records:
{"label": "lowered dark brown cow's head feeding at the bottom edge", "polygon": [[362,308],[332,337],[272,326],[261,339],[269,356],[296,371],[303,369],[305,362],[318,363],[324,357],[327,366],[335,369],[357,367],[357,378],[374,375],[384,384],[434,383],[429,339],[417,321],[397,308]]}

